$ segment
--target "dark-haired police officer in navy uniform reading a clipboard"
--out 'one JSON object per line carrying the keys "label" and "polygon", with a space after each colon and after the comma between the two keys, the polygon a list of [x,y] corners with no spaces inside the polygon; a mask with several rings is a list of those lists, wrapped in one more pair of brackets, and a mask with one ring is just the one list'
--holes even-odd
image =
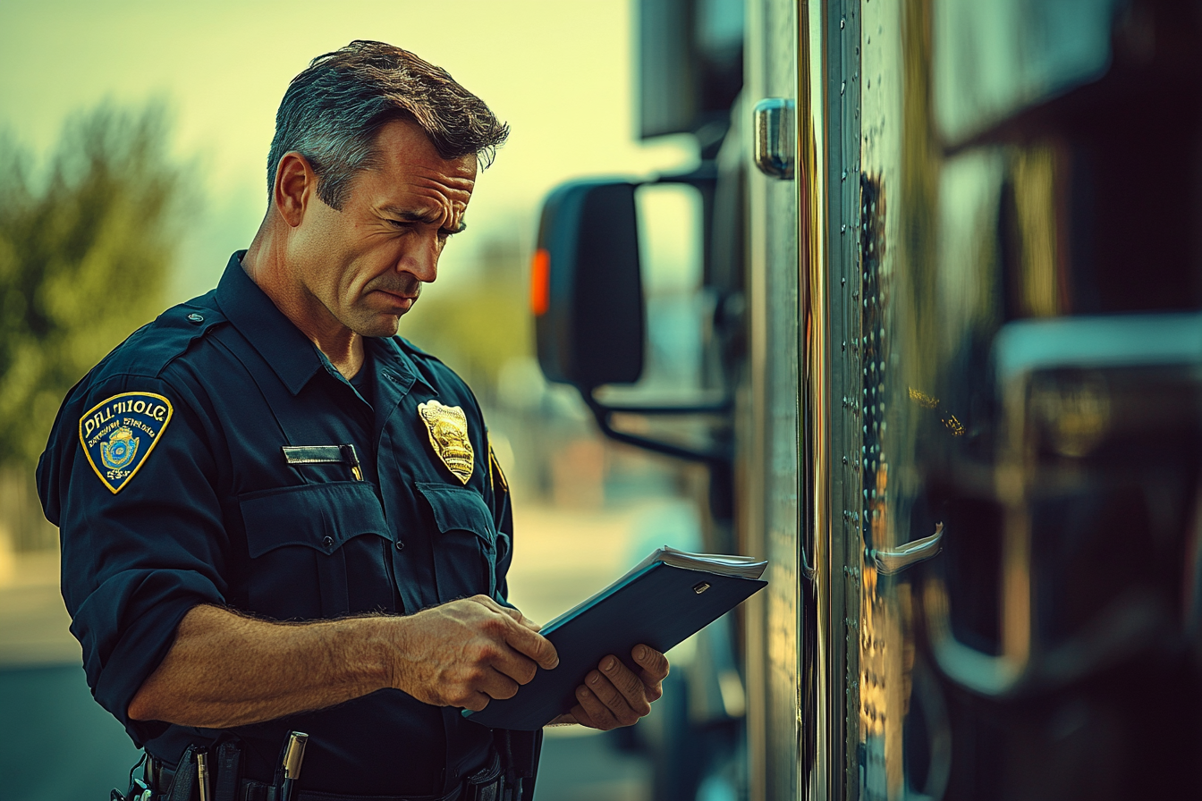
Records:
{"label": "dark-haired police officer in navy uniform reading a clipboard", "polygon": [[[274,799],[290,730],[302,800],[494,797],[532,773],[537,741],[458,709],[558,663],[505,600],[505,477],[468,387],[394,336],[506,135],[398,48],[315,59],[249,250],[65,400],[38,465],[63,593],[156,794],[189,797],[202,749],[219,801]],[[559,722],[649,711],[667,660],[618,656],[637,673],[607,657]]]}

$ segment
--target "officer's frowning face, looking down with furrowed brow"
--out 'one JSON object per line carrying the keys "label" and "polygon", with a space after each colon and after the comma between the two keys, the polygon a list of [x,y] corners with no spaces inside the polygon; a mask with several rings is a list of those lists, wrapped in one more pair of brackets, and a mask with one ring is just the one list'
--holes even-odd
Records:
{"label": "officer's frowning face, looking down with furrowed brow", "polygon": [[438,277],[447,238],[463,228],[476,157],[442,159],[404,120],[383,126],[375,149],[376,166],[356,175],[341,210],[314,193],[294,233],[293,263],[304,291],[339,323],[392,336],[422,283]]}

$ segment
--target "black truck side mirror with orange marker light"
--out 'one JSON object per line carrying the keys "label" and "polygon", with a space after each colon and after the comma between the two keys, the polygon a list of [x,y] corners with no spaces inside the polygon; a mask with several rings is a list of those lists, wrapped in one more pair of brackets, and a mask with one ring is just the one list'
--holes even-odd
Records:
{"label": "black truck side mirror with orange marker light", "polygon": [[546,201],[531,265],[538,364],[585,396],[643,372],[644,303],[635,189],[575,181]]}

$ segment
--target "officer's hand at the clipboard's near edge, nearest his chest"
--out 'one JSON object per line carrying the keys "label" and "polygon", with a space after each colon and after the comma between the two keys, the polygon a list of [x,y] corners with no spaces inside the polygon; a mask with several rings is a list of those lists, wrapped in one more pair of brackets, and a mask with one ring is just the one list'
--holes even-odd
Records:
{"label": "officer's hand at the clipboard's near edge, nearest his chest", "polygon": [[394,642],[391,685],[435,706],[478,712],[494,698],[512,698],[538,668],[559,664],[537,624],[488,596],[400,620],[405,623]]}

